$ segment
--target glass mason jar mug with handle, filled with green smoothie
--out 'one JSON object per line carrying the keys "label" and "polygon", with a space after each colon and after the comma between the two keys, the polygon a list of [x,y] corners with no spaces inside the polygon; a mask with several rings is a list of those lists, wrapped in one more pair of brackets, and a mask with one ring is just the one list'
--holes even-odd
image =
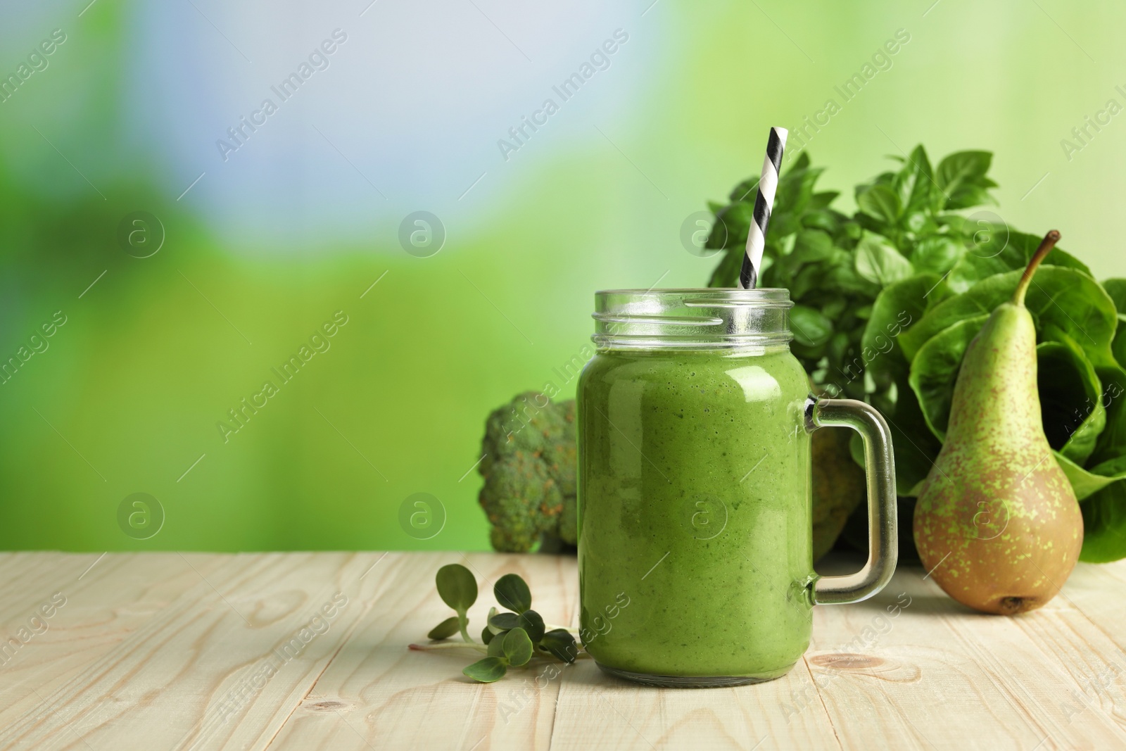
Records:
{"label": "glass mason jar mug with handle, filled with green smoothie", "polygon": [[[864,402],[814,399],[789,351],[786,289],[596,295],[578,387],[580,638],[598,665],[658,686],[778,678],[814,605],[891,579],[895,470]],[[844,576],[812,557],[811,433],[860,433],[870,549]]]}

